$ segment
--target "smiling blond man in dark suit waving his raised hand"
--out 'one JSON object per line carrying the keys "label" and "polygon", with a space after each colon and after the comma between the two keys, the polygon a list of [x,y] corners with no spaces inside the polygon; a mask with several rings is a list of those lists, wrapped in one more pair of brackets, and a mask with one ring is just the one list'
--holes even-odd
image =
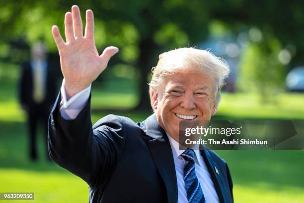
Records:
{"label": "smiling blond man in dark suit waving his raised hand", "polygon": [[49,152],[60,166],[89,185],[90,203],[231,203],[227,164],[211,150],[179,150],[180,120],[210,120],[228,67],[214,55],[182,48],[159,56],[150,84],[154,114],[135,123],[108,115],[93,126],[91,83],[118,52],[99,56],[93,13],[86,11],[85,34],[79,8],[65,16],[65,43],[57,26],[64,81],[49,119]]}

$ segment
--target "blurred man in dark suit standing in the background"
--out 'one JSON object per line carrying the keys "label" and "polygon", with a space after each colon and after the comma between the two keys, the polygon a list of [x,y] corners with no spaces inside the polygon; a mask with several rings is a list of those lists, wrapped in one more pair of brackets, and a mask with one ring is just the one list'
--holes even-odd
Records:
{"label": "blurred man in dark suit standing in the background", "polygon": [[19,83],[21,107],[27,113],[29,129],[29,157],[37,160],[36,130],[37,124],[43,124],[43,133],[47,151],[48,117],[56,99],[55,80],[47,62],[44,43],[37,42],[31,48],[31,61],[22,66]]}

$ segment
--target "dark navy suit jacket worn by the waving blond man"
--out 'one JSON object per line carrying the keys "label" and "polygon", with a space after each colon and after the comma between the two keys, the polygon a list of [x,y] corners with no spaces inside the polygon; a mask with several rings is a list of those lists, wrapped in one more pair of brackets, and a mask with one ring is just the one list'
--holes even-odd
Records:
{"label": "dark navy suit jacket worn by the waving blond man", "polygon": [[[111,114],[92,126],[90,99],[76,119],[65,120],[59,97],[49,119],[49,153],[89,185],[90,203],[177,203],[172,150],[155,114],[140,123]],[[220,202],[233,202],[227,164],[211,150],[201,154]]]}

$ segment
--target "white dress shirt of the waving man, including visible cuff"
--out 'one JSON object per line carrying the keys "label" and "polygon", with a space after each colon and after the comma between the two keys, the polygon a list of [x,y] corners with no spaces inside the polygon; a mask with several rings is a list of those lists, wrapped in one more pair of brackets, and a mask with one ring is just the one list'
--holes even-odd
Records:
{"label": "white dress shirt of the waving man, including visible cuff", "polygon": [[[61,102],[60,102],[60,113],[64,119],[75,119],[79,112],[83,109],[88,101],[90,95],[91,85],[77,93],[75,96],[67,101],[66,92],[64,85],[61,87]],[[178,189],[178,203],[188,203],[187,193],[185,189],[184,181],[184,162],[181,154],[185,150],[179,150],[179,143],[175,141],[170,135],[168,135],[170,146],[173,153],[176,179],[177,179],[177,189]],[[214,184],[211,180],[209,171],[206,167],[205,161],[200,154],[199,150],[194,150],[194,162],[195,162],[195,172],[198,181],[202,187],[206,203],[218,203],[219,198],[217,192],[214,188]]]}

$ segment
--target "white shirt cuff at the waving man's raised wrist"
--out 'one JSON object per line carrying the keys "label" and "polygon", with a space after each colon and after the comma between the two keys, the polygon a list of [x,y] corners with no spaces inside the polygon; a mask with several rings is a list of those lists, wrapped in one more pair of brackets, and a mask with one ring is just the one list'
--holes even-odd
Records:
{"label": "white shirt cuff at the waving man's raised wrist", "polygon": [[60,102],[60,114],[66,120],[74,120],[90,97],[91,84],[86,89],[80,91],[69,100],[67,100],[66,90],[62,83],[61,85],[61,102]]}

